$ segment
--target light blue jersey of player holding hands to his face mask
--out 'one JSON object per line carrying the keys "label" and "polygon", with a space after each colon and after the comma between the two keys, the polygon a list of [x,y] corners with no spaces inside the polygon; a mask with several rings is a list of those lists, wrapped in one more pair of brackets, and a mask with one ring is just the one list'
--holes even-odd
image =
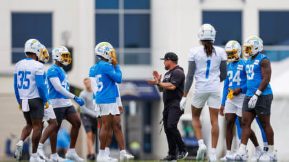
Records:
{"label": "light blue jersey of player holding hands to his face mask", "polygon": [[114,67],[110,62],[101,60],[94,65],[92,75],[89,71],[89,76],[93,77],[93,75],[98,86],[95,96],[96,104],[116,103],[116,93],[118,93],[116,83],[121,83],[122,80],[120,67],[118,65]]}

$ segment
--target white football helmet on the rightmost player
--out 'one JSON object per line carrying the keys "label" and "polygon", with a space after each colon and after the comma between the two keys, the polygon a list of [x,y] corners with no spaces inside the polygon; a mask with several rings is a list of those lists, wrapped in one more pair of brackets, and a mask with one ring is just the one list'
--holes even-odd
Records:
{"label": "white football helmet on the rightmost player", "polygon": [[248,58],[259,54],[263,50],[263,40],[258,36],[250,36],[247,38],[243,45],[243,55]]}

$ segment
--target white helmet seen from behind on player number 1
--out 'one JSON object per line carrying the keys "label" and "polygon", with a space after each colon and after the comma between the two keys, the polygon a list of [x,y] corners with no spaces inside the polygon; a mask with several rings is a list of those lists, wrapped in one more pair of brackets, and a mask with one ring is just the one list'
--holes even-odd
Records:
{"label": "white helmet seen from behind on player number 1", "polygon": [[216,31],[215,28],[208,23],[204,23],[200,28],[199,32],[197,33],[200,40],[215,40]]}

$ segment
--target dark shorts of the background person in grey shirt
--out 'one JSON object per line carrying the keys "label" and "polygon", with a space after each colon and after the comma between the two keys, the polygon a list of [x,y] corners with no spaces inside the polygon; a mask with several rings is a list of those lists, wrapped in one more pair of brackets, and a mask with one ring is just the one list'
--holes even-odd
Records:
{"label": "dark shorts of the background person in grey shirt", "polygon": [[91,117],[89,115],[81,114],[81,121],[83,122],[85,132],[93,132],[94,134],[96,134],[97,132],[96,117]]}

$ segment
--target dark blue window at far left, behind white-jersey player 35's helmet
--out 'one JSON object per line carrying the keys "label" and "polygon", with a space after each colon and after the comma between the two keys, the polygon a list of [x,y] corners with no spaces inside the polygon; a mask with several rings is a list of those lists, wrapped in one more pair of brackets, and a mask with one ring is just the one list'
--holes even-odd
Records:
{"label": "dark blue window at far left, behind white-jersey player 35's helmet", "polygon": [[52,48],[51,13],[12,13],[12,63],[26,57],[24,43],[30,38],[36,38],[47,49]]}

